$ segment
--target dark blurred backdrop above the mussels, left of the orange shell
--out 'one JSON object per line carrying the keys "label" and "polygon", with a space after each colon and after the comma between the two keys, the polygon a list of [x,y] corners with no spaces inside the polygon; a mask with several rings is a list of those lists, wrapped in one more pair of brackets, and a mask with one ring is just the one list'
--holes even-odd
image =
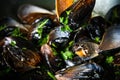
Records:
{"label": "dark blurred backdrop above the mussels, left of the orange shell", "polygon": [[17,19],[17,9],[22,4],[33,4],[48,10],[53,10],[55,7],[55,0],[1,0],[0,19],[6,16]]}

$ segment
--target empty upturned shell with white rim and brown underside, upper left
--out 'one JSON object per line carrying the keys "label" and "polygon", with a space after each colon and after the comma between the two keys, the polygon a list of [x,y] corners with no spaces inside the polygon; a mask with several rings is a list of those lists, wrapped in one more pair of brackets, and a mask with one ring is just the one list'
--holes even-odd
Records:
{"label": "empty upturned shell with white rim and brown underside, upper left", "polygon": [[24,4],[19,7],[18,9],[18,17],[21,19],[23,23],[32,24],[36,19],[41,17],[56,17],[54,13],[43,9],[41,7],[31,5],[31,4]]}

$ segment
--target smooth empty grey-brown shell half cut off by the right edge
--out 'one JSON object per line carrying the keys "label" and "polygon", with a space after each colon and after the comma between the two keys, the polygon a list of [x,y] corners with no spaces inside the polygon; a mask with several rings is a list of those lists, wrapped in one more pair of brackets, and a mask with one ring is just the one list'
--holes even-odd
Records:
{"label": "smooth empty grey-brown shell half cut off by the right edge", "polygon": [[110,50],[118,47],[120,47],[120,24],[115,24],[105,32],[99,48]]}

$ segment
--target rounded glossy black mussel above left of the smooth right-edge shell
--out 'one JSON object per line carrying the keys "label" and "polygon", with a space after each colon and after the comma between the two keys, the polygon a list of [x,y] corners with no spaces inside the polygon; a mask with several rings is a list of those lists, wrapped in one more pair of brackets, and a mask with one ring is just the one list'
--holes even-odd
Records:
{"label": "rounded glossy black mussel above left of the smooth right-edge shell", "polygon": [[101,16],[96,16],[91,18],[90,23],[85,29],[88,31],[88,35],[92,40],[95,38],[102,39],[102,36],[106,30],[107,23],[105,19]]}

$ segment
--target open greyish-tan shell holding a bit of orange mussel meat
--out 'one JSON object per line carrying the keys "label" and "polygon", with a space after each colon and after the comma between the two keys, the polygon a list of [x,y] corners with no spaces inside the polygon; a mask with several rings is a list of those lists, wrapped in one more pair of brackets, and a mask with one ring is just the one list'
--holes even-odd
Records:
{"label": "open greyish-tan shell holding a bit of orange mussel meat", "polygon": [[99,45],[93,42],[79,42],[73,46],[73,51],[83,61],[97,57],[99,54]]}

